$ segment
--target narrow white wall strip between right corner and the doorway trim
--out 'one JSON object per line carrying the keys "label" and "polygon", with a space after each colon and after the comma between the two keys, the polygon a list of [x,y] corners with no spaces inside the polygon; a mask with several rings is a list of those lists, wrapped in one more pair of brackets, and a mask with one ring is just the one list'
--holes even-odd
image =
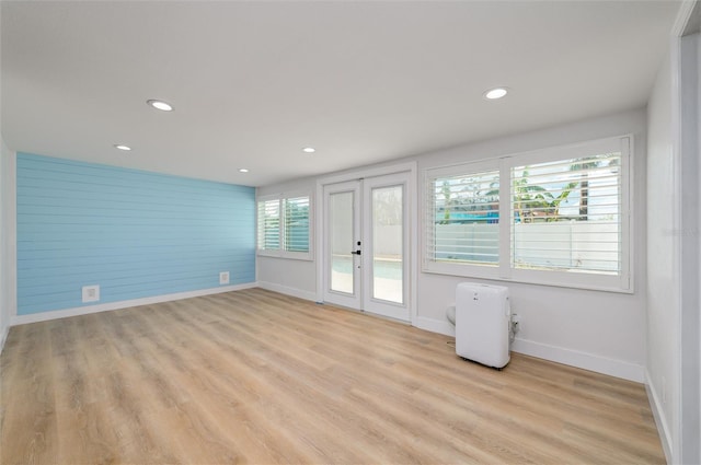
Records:
{"label": "narrow white wall strip between right corner and the doorway trim", "polygon": [[646,383],[670,457],[679,398],[679,293],[675,242],[675,159],[671,61],[659,69],[647,105],[647,357]]}

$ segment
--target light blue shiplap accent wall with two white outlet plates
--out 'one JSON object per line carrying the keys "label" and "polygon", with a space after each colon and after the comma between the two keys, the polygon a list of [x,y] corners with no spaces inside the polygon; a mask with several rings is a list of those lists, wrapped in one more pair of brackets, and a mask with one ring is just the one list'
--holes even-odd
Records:
{"label": "light blue shiplap accent wall with two white outlet plates", "polygon": [[27,153],[16,179],[19,315],[255,281],[252,187]]}

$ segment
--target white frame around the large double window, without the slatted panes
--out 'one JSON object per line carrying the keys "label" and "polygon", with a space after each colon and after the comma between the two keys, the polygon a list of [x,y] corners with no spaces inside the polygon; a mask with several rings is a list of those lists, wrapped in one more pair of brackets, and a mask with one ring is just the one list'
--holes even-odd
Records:
{"label": "white frame around the large double window, without the slatted panes", "polygon": [[[618,275],[598,275],[560,270],[517,269],[512,267],[512,168],[536,163],[621,152],[621,270]],[[497,156],[489,160],[428,167],[424,171],[424,225],[422,228],[422,271],[467,278],[558,286],[610,292],[632,293],[633,286],[633,137],[631,135],[590,140],[570,146]],[[499,265],[484,266],[459,261],[436,261],[430,256],[429,218],[434,211],[433,179],[456,174],[499,171]]]}

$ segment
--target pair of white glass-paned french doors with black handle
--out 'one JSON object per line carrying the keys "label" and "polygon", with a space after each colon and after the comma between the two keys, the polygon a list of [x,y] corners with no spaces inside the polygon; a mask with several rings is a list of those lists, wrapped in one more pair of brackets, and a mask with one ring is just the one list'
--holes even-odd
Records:
{"label": "pair of white glass-paned french doors with black handle", "polygon": [[409,322],[409,173],[324,186],[324,301]]}

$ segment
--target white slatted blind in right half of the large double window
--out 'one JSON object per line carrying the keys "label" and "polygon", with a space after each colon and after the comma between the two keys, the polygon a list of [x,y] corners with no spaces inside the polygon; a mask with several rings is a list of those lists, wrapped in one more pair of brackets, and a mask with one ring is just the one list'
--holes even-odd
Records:
{"label": "white slatted blind in right half of the large double window", "polygon": [[514,166],[512,267],[621,272],[621,153]]}

